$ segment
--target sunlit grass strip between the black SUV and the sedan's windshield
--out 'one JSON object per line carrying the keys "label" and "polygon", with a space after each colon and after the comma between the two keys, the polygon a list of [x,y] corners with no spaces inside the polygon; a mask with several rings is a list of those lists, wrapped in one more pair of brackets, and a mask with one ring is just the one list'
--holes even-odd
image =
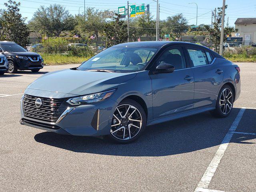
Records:
{"label": "sunlit grass strip between the black SUV and the sedan's windshield", "polygon": [[44,59],[45,65],[64,65],[64,64],[81,64],[90,57],[79,57],[63,54],[40,54]]}

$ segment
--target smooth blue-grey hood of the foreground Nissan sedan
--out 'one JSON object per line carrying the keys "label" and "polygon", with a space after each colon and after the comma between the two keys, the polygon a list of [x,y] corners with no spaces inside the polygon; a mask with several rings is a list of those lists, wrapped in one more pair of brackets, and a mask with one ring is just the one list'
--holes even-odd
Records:
{"label": "smooth blue-grey hood of the foreground Nissan sedan", "polygon": [[109,73],[67,69],[41,76],[28,89],[86,95],[117,88],[119,84],[135,76],[135,72]]}

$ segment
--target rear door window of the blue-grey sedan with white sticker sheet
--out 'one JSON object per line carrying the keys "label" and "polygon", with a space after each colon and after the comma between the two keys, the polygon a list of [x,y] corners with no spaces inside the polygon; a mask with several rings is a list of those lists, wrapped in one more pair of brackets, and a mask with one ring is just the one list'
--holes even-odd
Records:
{"label": "rear door window of the blue-grey sedan with white sticker sheet", "polygon": [[190,60],[192,61],[194,67],[209,64],[206,54],[203,50],[200,50],[200,49],[187,49],[187,50],[190,56]]}

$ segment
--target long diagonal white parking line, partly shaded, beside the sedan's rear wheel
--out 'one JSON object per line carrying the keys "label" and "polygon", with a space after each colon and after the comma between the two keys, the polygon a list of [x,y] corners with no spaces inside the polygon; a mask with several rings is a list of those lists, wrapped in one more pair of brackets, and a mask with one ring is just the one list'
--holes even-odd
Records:
{"label": "long diagonal white parking line, partly shaded, beside the sedan's rear wheel", "polygon": [[240,109],[240,111],[238,112],[238,115],[236,116],[234,122],[232,123],[230,129],[228,130],[226,136],[224,137],[224,139],[222,140],[216,154],[214,155],[212,161],[210,162],[208,168],[206,169],[206,171],[204,172],[204,175],[202,176],[200,182],[198,183],[195,192],[204,192],[203,190],[206,190],[206,192],[208,192],[208,185],[210,184],[212,177],[214,176],[214,173],[216,172],[218,165],[220,163],[220,160],[222,158],[222,156],[224,155],[224,152],[226,151],[228,144],[233,136],[233,133],[243,114],[244,114],[245,108]]}

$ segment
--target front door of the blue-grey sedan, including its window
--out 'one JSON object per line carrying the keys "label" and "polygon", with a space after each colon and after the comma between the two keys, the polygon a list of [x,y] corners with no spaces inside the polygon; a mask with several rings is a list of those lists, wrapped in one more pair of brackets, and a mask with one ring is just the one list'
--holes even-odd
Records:
{"label": "front door of the blue-grey sedan, including its window", "polygon": [[194,75],[180,46],[166,49],[156,61],[172,64],[172,73],[150,75],[152,79],[153,116],[161,118],[193,108]]}

